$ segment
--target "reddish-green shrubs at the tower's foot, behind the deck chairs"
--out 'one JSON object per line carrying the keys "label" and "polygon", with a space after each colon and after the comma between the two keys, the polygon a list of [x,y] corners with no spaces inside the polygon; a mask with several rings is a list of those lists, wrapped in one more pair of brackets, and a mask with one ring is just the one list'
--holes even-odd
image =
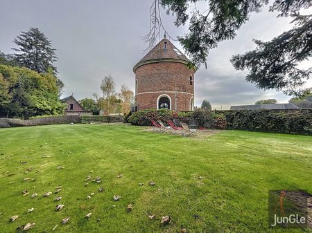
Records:
{"label": "reddish-green shrubs at the tower's foot, behind the deck chairs", "polygon": [[226,127],[224,115],[212,111],[175,112],[165,109],[147,109],[125,115],[123,122],[129,122],[141,126],[150,126],[152,120],[162,120],[162,122],[166,124],[168,120],[173,120],[175,118],[187,124],[191,119],[198,120],[199,127],[214,129],[225,129]]}

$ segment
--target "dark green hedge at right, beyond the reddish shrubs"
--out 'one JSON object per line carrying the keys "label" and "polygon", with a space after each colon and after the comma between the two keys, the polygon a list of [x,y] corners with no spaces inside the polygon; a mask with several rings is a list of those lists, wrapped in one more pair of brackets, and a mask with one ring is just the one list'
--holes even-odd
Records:
{"label": "dark green hedge at right, beyond the reddish shrubs", "polygon": [[227,129],[312,134],[312,109],[224,111]]}

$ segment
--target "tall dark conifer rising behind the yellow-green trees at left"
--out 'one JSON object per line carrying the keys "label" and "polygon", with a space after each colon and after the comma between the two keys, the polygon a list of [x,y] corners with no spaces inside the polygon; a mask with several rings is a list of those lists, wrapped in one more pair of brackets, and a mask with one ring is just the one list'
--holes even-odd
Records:
{"label": "tall dark conifer rising behind the yellow-green trees at left", "polygon": [[38,28],[31,28],[28,32],[21,32],[21,35],[15,38],[14,43],[18,48],[13,48],[16,61],[37,73],[49,73],[52,69],[56,74],[57,70],[53,62],[58,57],[55,55],[55,48],[51,47],[51,41],[47,39],[43,32]]}

